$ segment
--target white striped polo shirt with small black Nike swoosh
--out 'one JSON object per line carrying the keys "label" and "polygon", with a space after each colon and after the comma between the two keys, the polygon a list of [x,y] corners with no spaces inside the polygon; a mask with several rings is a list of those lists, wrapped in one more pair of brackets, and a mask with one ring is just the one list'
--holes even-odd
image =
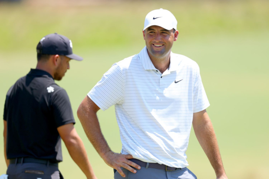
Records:
{"label": "white striped polo shirt with small black Nike swoosh", "polygon": [[209,106],[196,62],[171,53],[170,67],[162,74],[145,46],[115,63],[88,96],[103,111],[115,105],[122,154],[171,167],[188,166],[185,152],[193,113]]}

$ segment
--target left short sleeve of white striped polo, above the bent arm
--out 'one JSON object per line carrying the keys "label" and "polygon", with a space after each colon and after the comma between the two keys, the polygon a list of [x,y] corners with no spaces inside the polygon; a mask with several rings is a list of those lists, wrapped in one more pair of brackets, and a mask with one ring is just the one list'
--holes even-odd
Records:
{"label": "left short sleeve of white striped polo, above the bent arm", "polygon": [[88,96],[103,111],[120,104],[124,93],[124,78],[121,68],[114,64],[88,93]]}

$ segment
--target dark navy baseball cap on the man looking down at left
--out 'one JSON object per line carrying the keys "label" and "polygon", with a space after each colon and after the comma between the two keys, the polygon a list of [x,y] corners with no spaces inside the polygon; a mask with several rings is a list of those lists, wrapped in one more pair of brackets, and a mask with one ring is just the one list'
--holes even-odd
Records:
{"label": "dark navy baseball cap on the man looking down at left", "polygon": [[54,33],[43,37],[36,46],[36,51],[38,54],[64,55],[74,60],[83,60],[82,57],[73,54],[72,48],[73,45],[70,39]]}

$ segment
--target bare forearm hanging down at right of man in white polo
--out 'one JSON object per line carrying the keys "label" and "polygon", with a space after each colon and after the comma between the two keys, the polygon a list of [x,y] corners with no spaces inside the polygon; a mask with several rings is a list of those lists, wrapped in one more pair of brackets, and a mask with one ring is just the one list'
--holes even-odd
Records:
{"label": "bare forearm hanging down at right of man in white polo", "polygon": [[207,113],[203,113],[199,120],[194,120],[193,125],[196,137],[214,168],[217,178],[226,176],[220,156],[217,137]]}

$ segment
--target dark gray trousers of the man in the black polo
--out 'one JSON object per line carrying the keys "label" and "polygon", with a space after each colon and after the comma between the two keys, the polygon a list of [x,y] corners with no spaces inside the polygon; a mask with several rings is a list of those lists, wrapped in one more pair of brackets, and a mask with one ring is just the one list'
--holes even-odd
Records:
{"label": "dark gray trousers of the man in the black polo", "polygon": [[9,164],[6,174],[8,179],[61,179],[57,166],[40,163]]}

